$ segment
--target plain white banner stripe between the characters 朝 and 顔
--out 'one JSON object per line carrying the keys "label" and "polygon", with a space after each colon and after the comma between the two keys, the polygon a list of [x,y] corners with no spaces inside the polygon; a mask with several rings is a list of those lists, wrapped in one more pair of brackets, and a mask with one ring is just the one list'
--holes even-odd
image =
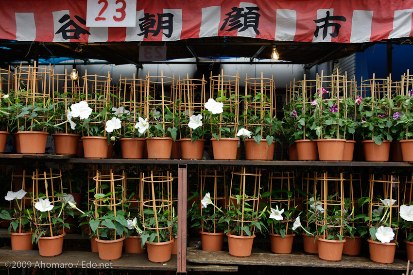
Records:
{"label": "plain white banner stripe between the characters \u671d and \u9854", "polygon": [[221,6],[202,8],[199,37],[218,36],[221,21]]}

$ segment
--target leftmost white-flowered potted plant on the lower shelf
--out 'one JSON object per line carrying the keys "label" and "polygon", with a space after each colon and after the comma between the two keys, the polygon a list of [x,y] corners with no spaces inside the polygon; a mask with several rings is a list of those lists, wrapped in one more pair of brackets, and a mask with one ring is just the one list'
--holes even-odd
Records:
{"label": "leftmost white-flowered potted plant on the lower shelf", "polygon": [[27,192],[21,189],[17,192],[9,191],[4,197],[7,201],[15,201],[15,204],[10,204],[12,207],[9,211],[2,210],[0,214],[0,218],[3,220],[11,221],[8,233],[12,243],[12,250],[33,250],[33,210],[24,209],[22,198],[26,194]]}

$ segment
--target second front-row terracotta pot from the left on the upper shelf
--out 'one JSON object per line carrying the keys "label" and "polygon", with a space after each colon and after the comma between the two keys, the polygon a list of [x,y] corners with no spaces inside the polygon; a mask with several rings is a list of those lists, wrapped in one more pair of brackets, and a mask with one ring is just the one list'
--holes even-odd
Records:
{"label": "second front-row terracotta pot from the left on the upper shelf", "polygon": [[18,131],[21,154],[44,154],[48,132]]}

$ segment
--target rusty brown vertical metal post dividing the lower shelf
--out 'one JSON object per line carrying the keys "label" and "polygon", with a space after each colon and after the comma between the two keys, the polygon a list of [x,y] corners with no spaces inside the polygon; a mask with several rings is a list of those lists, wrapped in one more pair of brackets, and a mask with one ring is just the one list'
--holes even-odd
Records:
{"label": "rusty brown vertical metal post dividing the lower shelf", "polygon": [[178,164],[178,268],[187,274],[187,164]]}

